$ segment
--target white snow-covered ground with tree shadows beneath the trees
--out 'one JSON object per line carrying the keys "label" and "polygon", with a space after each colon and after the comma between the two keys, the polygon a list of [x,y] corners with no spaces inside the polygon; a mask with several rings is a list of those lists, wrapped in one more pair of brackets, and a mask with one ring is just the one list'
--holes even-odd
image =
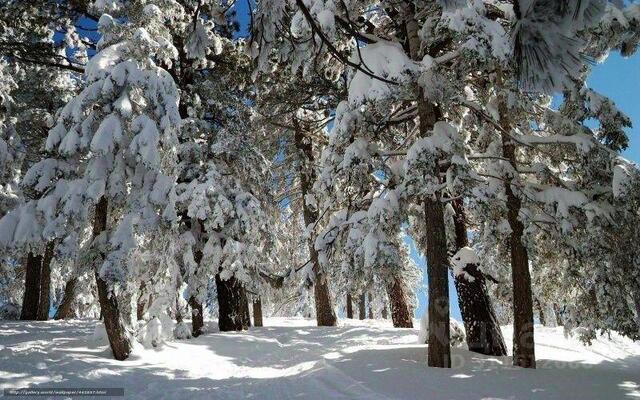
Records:
{"label": "white snow-covered ground with tree shadows beneath the trees", "polygon": [[0,321],[0,387],[124,387],[127,399],[172,400],[640,398],[640,343],[617,335],[585,347],[536,326],[537,370],[462,349],[454,368],[435,369],[417,330],[388,321],[267,318],[248,332],[136,348],[125,362],[96,342],[95,325]]}

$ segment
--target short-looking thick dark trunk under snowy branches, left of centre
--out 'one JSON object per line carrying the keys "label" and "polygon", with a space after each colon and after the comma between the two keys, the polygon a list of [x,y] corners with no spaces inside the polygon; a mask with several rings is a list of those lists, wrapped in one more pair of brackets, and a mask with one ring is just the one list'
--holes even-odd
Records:
{"label": "short-looking thick dark trunk under snowy branches, left of centre", "polygon": [[247,292],[234,276],[227,280],[216,274],[218,289],[218,328],[220,331],[242,331],[249,329],[249,303]]}

